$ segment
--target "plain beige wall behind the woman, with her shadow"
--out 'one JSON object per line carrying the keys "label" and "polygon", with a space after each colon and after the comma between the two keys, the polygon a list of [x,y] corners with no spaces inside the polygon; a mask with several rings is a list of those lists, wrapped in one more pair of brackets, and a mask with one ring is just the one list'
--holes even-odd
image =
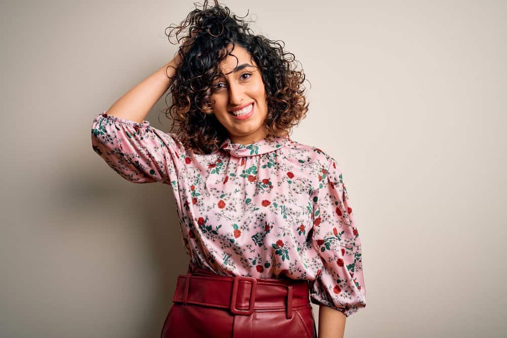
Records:
{"label": "plain beige wall behind the woman, with her shadow", "polygon": [[[2,3],[0,336],[160,336],[188,262],[170,186],[123,180],[90,128],[192,3]],[[302,63],[292,138],[344,172],[367,292],[345,336],[505,336],[506,3],[226,4]]]}

